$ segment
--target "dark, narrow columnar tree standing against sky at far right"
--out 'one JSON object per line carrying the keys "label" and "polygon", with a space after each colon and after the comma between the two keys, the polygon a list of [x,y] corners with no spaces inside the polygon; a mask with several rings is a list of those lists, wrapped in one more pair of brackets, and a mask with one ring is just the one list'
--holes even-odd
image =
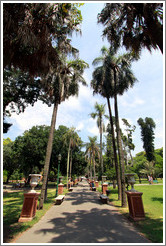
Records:
{"label": "dark, narrow columnar tree standing against sky at far right", "polygon": [[152,118],[146,117],[145,120],[139,118],[137,123],[141,127],[141,139],[143,141],[143,148],[146,152],[146,157],[149,162],[155,160],[154,156],[154,129],[156,127]]}

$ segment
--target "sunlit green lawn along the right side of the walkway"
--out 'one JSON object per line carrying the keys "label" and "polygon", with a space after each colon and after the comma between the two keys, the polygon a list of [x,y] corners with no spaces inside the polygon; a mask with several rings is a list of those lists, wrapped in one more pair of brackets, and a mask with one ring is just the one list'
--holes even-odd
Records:
{"label": "sunlit green lawn along the right side of the walkway", "polygon": [[[110,189],[110,187],[109,187]],[[163,185],[140,185],[135,189],[143,192],[142,199],[145,210],[145,220],[133,222],[139,230],[153,243],[163,242]],[[111,188],[110,201],[128,216],[128,208],[121,208],[117,200],[117,190]]]}

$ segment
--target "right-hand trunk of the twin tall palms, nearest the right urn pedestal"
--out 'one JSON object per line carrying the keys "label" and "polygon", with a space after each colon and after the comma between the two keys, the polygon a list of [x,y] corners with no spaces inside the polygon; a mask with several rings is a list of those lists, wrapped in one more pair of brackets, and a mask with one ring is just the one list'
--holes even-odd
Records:
{"label": "right-hand trunk of the twin tall palms, nearest the right urn pedestal", "polygon": [[122,149],[122,139],[119,127],[119,115],[118,115],[118,103],[117,103],[117,95],[114,97],[115,100],[115,122],[116,122],[116,131],[117,131],[117,145],[118,145],[118,153],[119,153],[119,163],[121,167],[121,196],[122,196],[122,207],[127,206],[126,201],[126,193],[125,193],[125,164],[124,164],[124,153]]}

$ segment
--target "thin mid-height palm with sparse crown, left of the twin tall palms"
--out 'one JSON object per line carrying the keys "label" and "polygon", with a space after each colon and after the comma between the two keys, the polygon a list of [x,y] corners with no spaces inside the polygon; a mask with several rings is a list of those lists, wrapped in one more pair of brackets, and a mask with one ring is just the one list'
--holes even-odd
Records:
{"label": "thin mid-height palm with sparse crown, left of the twin tall palms", "polygon": [[98,104],[96,102],[95,104],[95,112],[91,113],[91,117],[93,119],[95,119],[97,117],[97,126],[99,128],[99,132],[100,132],[100,166],[101,166],[101,172],[103,174],[103,156],[102,156],[102,152],[103,152],[103,148],[102,148],[102,134],[105,131],[105,126],[104,126],[104,122],[103,122],[103,116],[105,114],[105,105],[103,104]]}

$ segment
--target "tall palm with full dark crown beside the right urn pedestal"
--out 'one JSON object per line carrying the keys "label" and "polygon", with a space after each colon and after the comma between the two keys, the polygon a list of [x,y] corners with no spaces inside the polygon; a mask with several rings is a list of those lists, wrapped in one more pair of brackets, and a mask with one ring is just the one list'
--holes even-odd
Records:
{"label": "tall palm with full dark crown beside the right urn pedestal", "polygon": [[[96,71],[94,72],[94,80],[92,81],[92,87],[94,92],[101,93],[103,96],[107,97],[107,102],[109,97],[114,98],[114,108],[115,108],[115,119],[116,119],[116,132],[117,132],[117,146],[119,153],[119,162],[121,168],[121,187],[122,187],[122,206],[125,207],[126,196],[125,196],[125,166],[124,166],[124,154],[122,149],[122,139],[119,127],[119,114],[118,114],[118,103],[117,94],[123,94],[125,90],[132,86],[136,81],[132,71],[131,71],[131,55],[125,54],[123,56],[115,57],[115,50],[110,48],[102,48],[102,57],[94,60],[94,64],[102,62],[102,66],[97,69],[100,72],[100,78],[96,76]],[[96,69],[96,70],[97,70]],[[98,73],[98,71],[97,71]],[[100,79],[100,80],[99,80]],[[103,91],[104,90],[104,91]],[[103,93],[104,92],[104,93]],[[109,103],[108,103],[108,107]],[[110,111],[110,109],[109,109]],[[111,124],[111,128],[113,124]],[[118,165],[117,165],[118,166]]]}

